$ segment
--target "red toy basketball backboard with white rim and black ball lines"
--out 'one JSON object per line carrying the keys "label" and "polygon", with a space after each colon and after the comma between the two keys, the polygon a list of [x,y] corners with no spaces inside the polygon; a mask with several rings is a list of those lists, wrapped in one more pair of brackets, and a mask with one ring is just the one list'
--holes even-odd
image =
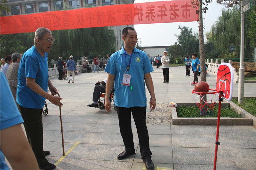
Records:
{"label": "red toy basketball backboard with white rim and black ball lines", "polygon": [[232,99],[234,72],[229,63],[221,63],[217,72],[216,90],[223,91],[222,97],[230,101]]}

